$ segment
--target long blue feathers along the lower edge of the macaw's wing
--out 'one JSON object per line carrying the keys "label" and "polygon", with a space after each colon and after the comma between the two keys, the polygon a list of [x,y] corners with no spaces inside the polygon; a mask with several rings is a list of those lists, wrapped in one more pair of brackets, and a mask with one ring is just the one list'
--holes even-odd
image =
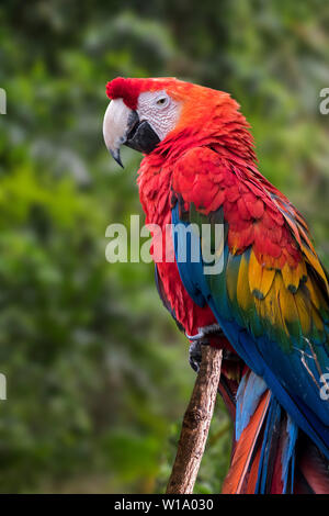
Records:
{"label": "long blue feathers along the lower edge of the macaw's wing", "polygon": [[[172,224],[189,226],[189,222],[180,220],[178,205],[172,210]],[[179,259],[180,233],[174,232],[174,234],[177,265],[191,298],[198,305],[207,303],[211,306],[237,354],[250,369],[263,378],[295,424],[308,434],[329,459],[328,401],[320,397],[320,371],[314,358],[300,346],[293,348],[290,354],[284,352],[271,338],[272,335],[270,337],[264,332],[251,330],[239,314],[232,313],[225,280],[228,260],[231,260],[226,243],[223,251],[223,272],[205,276],[201,250],[197,262],[191,262],[189,253],[186,260]],[[322,369],[324,364],[329,367],[328,355],[322,346],[317,346],[317,360],[320,361]]]}

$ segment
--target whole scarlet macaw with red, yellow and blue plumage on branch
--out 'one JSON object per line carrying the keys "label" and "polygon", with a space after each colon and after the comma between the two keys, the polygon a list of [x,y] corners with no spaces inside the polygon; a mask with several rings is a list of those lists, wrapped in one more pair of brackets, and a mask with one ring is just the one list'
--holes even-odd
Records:
{"label": "whole scarlet macaw with red, yellow and blue plumage on branch", "polygon": [[[222,492],[328,494],[329,288],[307,223],[260,172],[251,127],[229,93],[116,77],[106,94],[111,156],[123,166],[122,145],[143,154],[145,222],[161,228],[152,235],[160,299],[186,335],[193,369],[201,346],[223,350],[218,391],[234,437]],[[166,257],[155,259],[163,245]]]}

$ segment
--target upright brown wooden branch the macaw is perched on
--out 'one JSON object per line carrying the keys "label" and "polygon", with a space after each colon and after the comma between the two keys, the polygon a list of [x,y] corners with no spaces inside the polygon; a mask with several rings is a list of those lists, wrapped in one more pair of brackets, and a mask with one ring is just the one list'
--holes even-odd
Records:
{"label": "upright brown wooden branch the macaw is perched on", "polygon": [[202,362],[186,408],[167,494],[193,493],[220,378],[222,349],[202,346]]}

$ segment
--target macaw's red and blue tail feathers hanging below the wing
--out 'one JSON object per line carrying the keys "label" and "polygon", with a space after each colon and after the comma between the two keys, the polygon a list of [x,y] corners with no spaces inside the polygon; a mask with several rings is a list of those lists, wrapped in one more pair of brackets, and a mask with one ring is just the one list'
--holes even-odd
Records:
{"label": "macaw's red and blue tail feathers hanging below the wing", "polygon": [[226,494],[329,494],[329,467],[263,380],[246,370],[236,395]]}

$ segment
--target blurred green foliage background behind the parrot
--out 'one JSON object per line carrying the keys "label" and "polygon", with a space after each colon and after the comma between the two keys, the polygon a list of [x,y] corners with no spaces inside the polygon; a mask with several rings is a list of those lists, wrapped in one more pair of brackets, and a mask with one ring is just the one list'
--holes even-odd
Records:
{"label": "blurred green foliage background behind the parrot", "polygon": [[[7,0],[0,7],[0,492],[162,492],[193,383],[154,268],[105,261],[105,228],[141,213],[140,156],[102,138],[105,83],[177,76],[229,91],[260,170],[307,217],[329,265],[329,3]],[[218,492],[218,401],[196,492]]]}

